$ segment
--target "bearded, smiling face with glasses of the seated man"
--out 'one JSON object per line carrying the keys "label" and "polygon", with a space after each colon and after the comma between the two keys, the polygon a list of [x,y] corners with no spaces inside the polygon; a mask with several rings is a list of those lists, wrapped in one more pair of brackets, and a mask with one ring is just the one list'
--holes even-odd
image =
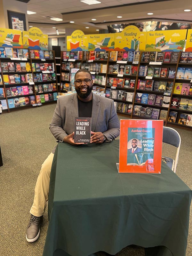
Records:
{"label": "bearded, smiling face with glasses of the seated man", "polygon": [[77,95],[84,99],[87,98],[93,89],[93,80],[84,83],[83,81],[86,79],[92,79],[89,73],[86,72],[79,72],[75,76],[75,81],[81,82],[80,84],[75,82],[75,90],[77,92]]}

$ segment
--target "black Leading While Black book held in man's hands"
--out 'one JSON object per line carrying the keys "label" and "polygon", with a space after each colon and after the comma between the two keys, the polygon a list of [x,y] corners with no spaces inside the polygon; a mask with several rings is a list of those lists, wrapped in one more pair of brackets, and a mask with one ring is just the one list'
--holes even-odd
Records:
{"label": "black Leading While Black book held in man's hands", "polygon": [[88,143],[91,140],[91,117],[75,117],[74,142]]}

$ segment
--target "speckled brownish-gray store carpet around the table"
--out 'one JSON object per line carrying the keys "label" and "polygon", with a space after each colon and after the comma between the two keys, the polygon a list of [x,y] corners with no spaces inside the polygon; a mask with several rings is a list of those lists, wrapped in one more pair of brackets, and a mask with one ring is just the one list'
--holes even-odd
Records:
{"label": "speckled brownish-gray store carpet around the table", "polygon": [[[28,243],[25,231],[30,218],[34,188],[40,166],[56,140],[49,131],[56,103],[38,108],[26,108],[0,115],[0,145],[3,166],[0,167],[0,255],[40,256],[43,254],[48,227],[47,208],[39,239]],[[125,116],[119,116],[125,119]],[[192,188],[192,131],[176,128],[181,136],[177,175]],[[171,147],[171,146],[169,146]],[[163,145],[163,155],[173,149]],[[105,256],[104,252],[97,253]],[[116,256],[144,256],[144,249],[128,246]],[[192,213],[189,223],[186,256],[192,255]],[[82,255],[86,256],[86,255]],[[156,255],[154,255],[156,256]],[[181,255],[183,256],[183,255]]]}

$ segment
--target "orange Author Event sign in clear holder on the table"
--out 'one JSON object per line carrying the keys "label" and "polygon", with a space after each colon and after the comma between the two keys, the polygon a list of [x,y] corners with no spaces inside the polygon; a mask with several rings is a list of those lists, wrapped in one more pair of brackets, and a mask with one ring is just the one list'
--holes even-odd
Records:
{"label": "orange Author Event sign in clear holder on the table", "polygon": [[120,120],[119,173],[161,173],[163,120]]}

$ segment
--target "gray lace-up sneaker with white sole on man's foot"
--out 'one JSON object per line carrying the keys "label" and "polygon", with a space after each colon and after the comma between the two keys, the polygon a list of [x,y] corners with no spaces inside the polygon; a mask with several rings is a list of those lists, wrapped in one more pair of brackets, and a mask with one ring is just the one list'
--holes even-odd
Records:
{"label": "gray lace-up sneaker with white sole on man's foot", "polygon": [[26,239],[28,242],[35,242],[40,234],[40,225],[43,221],[43,215],[40,217],[36,217],[31,214],[31,218],[29,220],[29,224],[26,230]]}

